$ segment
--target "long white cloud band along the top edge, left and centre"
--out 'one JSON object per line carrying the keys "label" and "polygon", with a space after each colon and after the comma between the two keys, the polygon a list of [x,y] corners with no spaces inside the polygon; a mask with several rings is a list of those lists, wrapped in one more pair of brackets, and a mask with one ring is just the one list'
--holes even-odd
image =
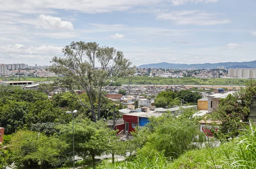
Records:
{"label": "long white cloud band along the top edge, left and centre", "polygon": [[[53,13],[52,9],[102,13],[127,11],[133,7],[154,6],[161,0],[6,0],[0,2],[0,11],[23,13]],[[43,12],[45,11],[45,12]]]}

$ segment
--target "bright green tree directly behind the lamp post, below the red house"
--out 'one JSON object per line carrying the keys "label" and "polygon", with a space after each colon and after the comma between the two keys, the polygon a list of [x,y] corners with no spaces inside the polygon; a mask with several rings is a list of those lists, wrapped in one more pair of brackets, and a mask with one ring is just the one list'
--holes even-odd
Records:
{"label": "bright green tree directly behind the lamp post, below the red house", "polygon": [[[72,123],[59,125],[56,128],[60,130],[60,138],[69,144],[68,150],[72,152]],[[105,122],[97,121],[97,123],[94,123],[88,118],[76,118],[74,121],[74,129],[74,141],[76,143],[75,152],[84,159],[90,155],[93,162],[95,162],[95,156],[102,155],[108,148],[110,144],[109,138],[111,138],[112,144],[113,135],[115,136],[115,133],[110,131]]]}

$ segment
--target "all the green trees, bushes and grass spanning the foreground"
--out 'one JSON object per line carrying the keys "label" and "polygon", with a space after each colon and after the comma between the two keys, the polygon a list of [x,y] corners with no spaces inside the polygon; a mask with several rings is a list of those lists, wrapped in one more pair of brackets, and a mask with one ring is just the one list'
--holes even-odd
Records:
{"label": "all the green trees, bushes and grass spanning the foreground", "polygon": [[[256,96],[256,81],[247,81],[246,86],[233,96],[221,99],[218,110],[207,116],[213,122],[221,121],[220,130],[214,133],[217,140],[207,142],[198,127],[201,118],[192,118],[196,112],[194,109],[150,118],[144,128],[137,128],[133,133],[133,140],[122,142],[104,121],[95,123],[91,112],[74,99],[73,93],[58,93],[48,99],[45,93],[39,91],[0,86],[0,126],[5,127],[6,134],[0,148],[0,168],[11,163],[24,168],[50,168],[70,162],[72,117],[65,111],[76,109],[75,152],[93,168],[253,169],[256,167],[256,129],[239,121],[249,122],[249,105],[252,96]],[[79,95],[79,98],[84,102],[88,99],[86,94]],[[158,98],[166,99],[167,105],[175,104],[175,101],[180,103],[180,99],[188,104],[199,99],[198,92],[190,90],[176,93],[168,90],[159,93]],[[102,97],[103,118],[112,118],[113,105],[109,99]],[[96,103],[93,106],[98,108]],[[122,104],[116,108],[123,108]],[[243,130],[239,131],[239,128]],[[221,141],[221,145],[212,147],[214,141]],[[96,156],[111,154],[114,157],[128,152],[134,156],[124,162],[96,162]]]}

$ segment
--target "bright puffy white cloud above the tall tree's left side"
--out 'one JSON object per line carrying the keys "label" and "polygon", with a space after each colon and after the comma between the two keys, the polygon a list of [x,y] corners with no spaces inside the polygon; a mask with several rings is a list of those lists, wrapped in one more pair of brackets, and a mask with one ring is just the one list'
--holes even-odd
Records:
{"label": "bright puffy white cloud above the tall tree's left side", "polygon": [[59,17],[39,16],[39,27],[44,29],[68,29],[73,30],[73,24],[68,21],[62,21]]}

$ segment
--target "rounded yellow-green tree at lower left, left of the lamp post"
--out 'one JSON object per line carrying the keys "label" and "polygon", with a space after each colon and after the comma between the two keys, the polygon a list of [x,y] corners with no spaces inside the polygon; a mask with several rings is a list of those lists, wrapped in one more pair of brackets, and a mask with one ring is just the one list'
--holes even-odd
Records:
{"label": "rounded yellow-green tree at lower left, left of the lamp post", "polygon": [[10,145],[15,165],[26,167],[38,161],[41,165],[46,162],[54,165],[67,147],[67,144],[58,138],[29,130],[20,130],[13,134]]}

